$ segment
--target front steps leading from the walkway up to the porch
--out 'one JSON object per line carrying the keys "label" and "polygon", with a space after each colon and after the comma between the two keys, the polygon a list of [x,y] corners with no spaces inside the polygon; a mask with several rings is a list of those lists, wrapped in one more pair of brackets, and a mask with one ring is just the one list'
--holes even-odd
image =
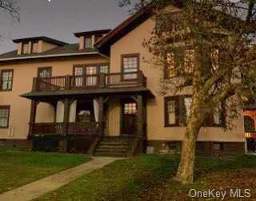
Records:
{"label": "front steps leading from the walkway up to the porch", "polygon": [[104,137],[94,151],[95,156],[127,157],[129,152],[128,140],[118,137]]}

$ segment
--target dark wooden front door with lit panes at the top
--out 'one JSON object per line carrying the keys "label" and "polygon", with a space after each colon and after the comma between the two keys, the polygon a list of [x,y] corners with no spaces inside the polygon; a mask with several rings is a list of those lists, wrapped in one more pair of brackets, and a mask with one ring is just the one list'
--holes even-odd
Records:
{"label": "dark wooden front door with lit panes at the top", "polygon": [[136,135],[137,104],[134,101],[122,103],[122,135]]}

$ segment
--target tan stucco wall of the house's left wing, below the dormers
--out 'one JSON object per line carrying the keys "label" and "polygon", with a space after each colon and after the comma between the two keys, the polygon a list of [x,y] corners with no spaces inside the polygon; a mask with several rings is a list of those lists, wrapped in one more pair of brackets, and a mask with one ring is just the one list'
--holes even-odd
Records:
{"label": "tan stucco wall of the house's left wing, below the dormers", "polygon": [[[65,76],[73,73],[75,64],[108,63],[102,57],[74,57],[73,59],[56,59],[51,61],[22,62],[17,64],[0,65],[2,69],[14,69],[13,89],[11,92],[0,92],[0,105],[10,105],[10,127],[0,128],[0,139],[26,139],[30,120],[30,101],[19,97],[32,89],[33,77],[38,75],[38,67],[52,67],[52,76]],[[37,122],[52,122],[54,111],[50,104],[38,104]],[[10,130],[13,135],[10,136]]]}

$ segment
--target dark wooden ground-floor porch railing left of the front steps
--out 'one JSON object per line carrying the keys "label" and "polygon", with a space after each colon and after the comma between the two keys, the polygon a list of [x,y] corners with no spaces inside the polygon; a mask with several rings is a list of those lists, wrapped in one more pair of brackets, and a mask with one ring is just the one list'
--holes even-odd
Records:
{"label": "dark wooden ground-floor porch railing left of the front steps", "polygon": [[35,123],[30,124],[30,135],[76,135],[76,136],[97,136],[99,127],[96,122],[90,123]]}

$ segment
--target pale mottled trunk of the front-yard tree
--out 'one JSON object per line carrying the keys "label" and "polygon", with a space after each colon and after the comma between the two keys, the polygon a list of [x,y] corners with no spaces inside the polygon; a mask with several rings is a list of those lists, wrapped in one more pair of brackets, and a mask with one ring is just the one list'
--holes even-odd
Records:
{"label": "pale mottled trunk of the front-yard tree", "polygon": [[[197,101],[195,101],[197,102]],[[200,104],[192,104],[186,133],[182,142],[182,156],[178,166],[176,179],[182,183],[193,183],[194,162],[198,132],[204,119]]]}

